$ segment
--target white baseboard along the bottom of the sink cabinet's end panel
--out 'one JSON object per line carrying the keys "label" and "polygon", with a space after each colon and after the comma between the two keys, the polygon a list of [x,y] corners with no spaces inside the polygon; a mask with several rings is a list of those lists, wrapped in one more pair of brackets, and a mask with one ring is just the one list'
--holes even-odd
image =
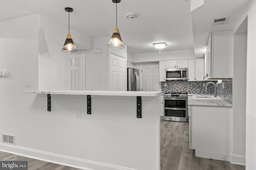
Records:
{"label": "white baseboard along the bottom of the sink cabinet's end panel", "polygon": [[204,150],[195,150],[195,156],[201,157],[201,158],[230,161],[230,154],[225,154],[225,153],[209,152],[209,151],[204,151]]}

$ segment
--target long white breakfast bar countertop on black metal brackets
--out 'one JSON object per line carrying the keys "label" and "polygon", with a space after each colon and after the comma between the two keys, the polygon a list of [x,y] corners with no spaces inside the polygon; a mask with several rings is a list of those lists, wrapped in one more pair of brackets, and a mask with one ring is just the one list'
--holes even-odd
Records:
{"label": "long white breakfast bar countertop on black metal brackets", "polygon": [[30,94],[66,94],[66,95],[95,95],[95,96],[147,96],[154,97],[160,96],[163,92],[161,91],[100,91],[100,90],[31,90],[22,91],[22,93]]}

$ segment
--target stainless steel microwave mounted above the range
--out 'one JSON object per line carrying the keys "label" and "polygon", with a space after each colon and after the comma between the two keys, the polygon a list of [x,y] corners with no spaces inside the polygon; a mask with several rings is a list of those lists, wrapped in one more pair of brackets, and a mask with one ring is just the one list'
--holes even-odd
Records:
{"label": "stainless steel microwave mounted above the range", "polygon": [[166,68],[166,80],[188,80],[188,68]]}

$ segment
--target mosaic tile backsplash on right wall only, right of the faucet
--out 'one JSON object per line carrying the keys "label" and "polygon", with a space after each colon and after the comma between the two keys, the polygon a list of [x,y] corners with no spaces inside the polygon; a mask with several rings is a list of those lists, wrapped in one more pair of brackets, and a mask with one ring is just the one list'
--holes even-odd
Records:
{"label": "mosaic tile backsplash on right wall only, right of the faucet", "polygon": [[[224,88],[222,88],[222,84],[224,84]],[[217,96],[220,96],[227,102],[233,102],[233,79],[229,78],[226,80],[222,80],[222,84],[218,85],[216,91]]]}

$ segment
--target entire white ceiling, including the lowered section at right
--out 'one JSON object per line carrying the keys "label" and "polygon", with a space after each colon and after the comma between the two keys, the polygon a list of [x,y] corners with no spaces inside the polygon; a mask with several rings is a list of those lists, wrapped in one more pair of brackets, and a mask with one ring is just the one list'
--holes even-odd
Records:
{"label": "entire white ceiling, including the lowered section at right", "polygon": [[[205,49],[208,34],[232,29],[248,1],[204,0],[203,6],[190,13],[190,0],[121,0],[118,28],[131,54],[158,52],[152,43],[160,42],[167,44],[162,51],[195,47],[196,54],[201,54],[198,51]],[[112,0],[1,0],[0,21],[42,14],[67,25],[65,7],[74,9],[70,13],[70,27],[90,37],[112,35],[116,16]],[[129,12],[136,12],[140,17],[126,19],[125,14]],[[210,25],[212,18],[223,16],[230,16],[227,25]]]}

